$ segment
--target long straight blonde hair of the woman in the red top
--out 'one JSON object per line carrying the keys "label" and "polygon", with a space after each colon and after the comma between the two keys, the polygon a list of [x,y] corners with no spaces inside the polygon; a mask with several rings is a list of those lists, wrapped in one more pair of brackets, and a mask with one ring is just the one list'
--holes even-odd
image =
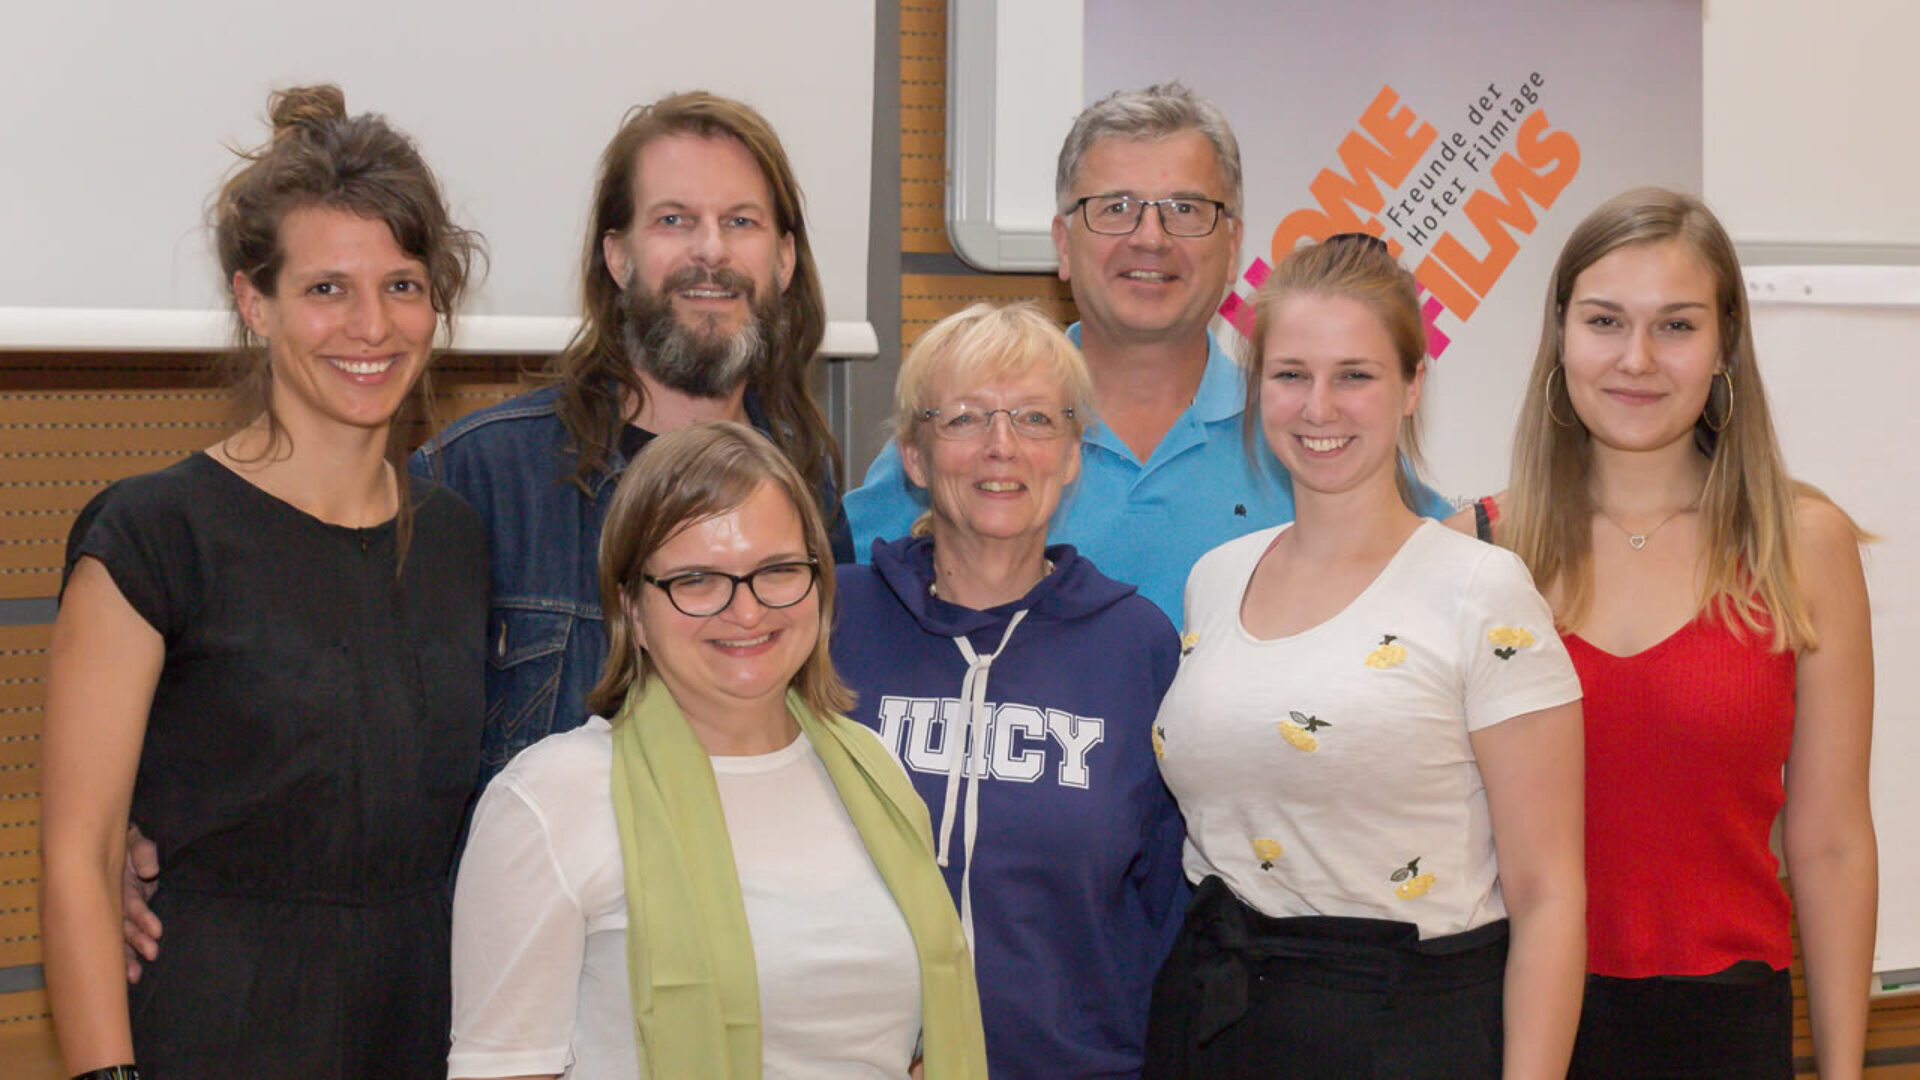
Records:
{"label": "long straight blonde hair of the woman in the red top", "polygon": [[[1594,600],[1596,505],[1590,490],[1592,440],[1561,371],[1567,304],[1578,277],[1599,259],[1620,248],[1667,240],[1684,244],[1713,275],[1726,373],[1726,379],[1715,375],[1707,407],[1693,425],[1693,444],[1709,461],[1699,498],[1699,557],[1705,569],[1699,611],[1711,607],[1728,626],[1770,634],[1776,651],[1811,650],[1816,638],[1793,561],[1795,503],[1801,496],[1826,496],[1788,477],[1753,359],[1753,321],[1740,258],[1726,229],[1693,196],[1665,188],[1622,192],[1574,227],[1561,248],[1548,281],[1540,348],[1513,432],[1507,525],[1500,542],[1521,555],[1540,592],[1557,600],[1559,623],[1576,626]],[[1707,423],[1709,415],[1724,417],[1720,430]]]}

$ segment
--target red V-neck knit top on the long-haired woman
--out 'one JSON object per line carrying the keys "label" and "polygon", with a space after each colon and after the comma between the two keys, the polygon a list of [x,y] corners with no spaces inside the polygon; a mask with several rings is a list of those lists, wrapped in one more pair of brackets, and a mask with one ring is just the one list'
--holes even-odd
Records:
{"label": "red V-neck knit top on the long-haired woman", "polygon": [[1795,655],[1713,617],[1630,657],[1565,642],[1586,694],[1588,970],[1786,969],[1768,836],[1786,801]]}

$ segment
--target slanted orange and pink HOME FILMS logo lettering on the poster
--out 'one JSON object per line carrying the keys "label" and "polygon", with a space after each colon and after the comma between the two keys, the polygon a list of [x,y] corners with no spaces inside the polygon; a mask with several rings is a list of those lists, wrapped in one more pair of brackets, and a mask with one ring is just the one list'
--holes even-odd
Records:
{"label": "slanted orange and pink HOME FILMS logo lettering on the poster", "polygon": [[[1300,240],[1340,233],[1384,236],[1398,258],[1407,244],[1425,254],[1413,277],[1421,284],[1427,352],[1446,352],[1440,311],[1465,323],[1540,225],[1534,206],[1549,209],[1580,171],[1580,144],[1553,131],[1540,106],[1538,71],[1513,92],[1496,83],[1467,104],[1467,127],[1446,138],[1380,86],[1359,125],[1340,140],[1340,169],[1321,169],[1306,206],[1273,231],[1273,261]],[[1382,225],[1380,219],[1386,219]],[[1402,242],[1402,238],[1405,242]],[[1260,288],[1273,267],[1254,259],[1246,282]],[[1254,334],[1254,307],[1227,296],[1219,313],[1244,336]]]}

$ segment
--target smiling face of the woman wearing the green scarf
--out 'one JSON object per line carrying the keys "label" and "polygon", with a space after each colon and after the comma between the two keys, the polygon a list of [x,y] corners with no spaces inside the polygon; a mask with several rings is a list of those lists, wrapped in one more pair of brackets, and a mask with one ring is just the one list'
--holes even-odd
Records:
{"label": "smiling face of the woman wearing the green scarf", "polygon": [[[745,577],[772,563],[810,555],[793,502],[760,482],[733,509],[689,523],[662,544],[645,573],[668,578],[689,571]],[[689,717],[708,724],[783,717],[783,698],[820,638],[820,590],[791,607],[764,607],[747,586],[705,619],[682,615],[655,584],[639,584],[630,605],[634,640],[647,650],[666,690]]]}

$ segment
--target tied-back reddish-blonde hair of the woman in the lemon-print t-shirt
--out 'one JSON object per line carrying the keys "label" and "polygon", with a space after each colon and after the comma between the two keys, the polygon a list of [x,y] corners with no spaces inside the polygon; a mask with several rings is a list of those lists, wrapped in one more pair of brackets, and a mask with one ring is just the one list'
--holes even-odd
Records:
{"label": "tied-back reddish-blonde hair of the woman in the lemon-print t-shirt", "polygon": [[[1394,359],[1400,361],[1400,377],[1407,382],[1427,361],[1427,321],[1421,319],[1419,284],[1413,275],[1394,261],[1386,252],[1386,242],[1361,233],[1332,236],[1321,244],[1296,248],[1273,267],[1267,281],[1254,294],[1254,334],[1240,340],[1240,369],[1246,379],[1246,411],[1240,417],[1246,438],[1248,461],[1254,461],[1254,444],[1260,430],[1260,388],[1261,357],[1267,348],[1267,332],[1279,315],[1281,304],[1288,296],[1344,296],[1363,304],[1380,321],[1386,338],[1394,342]],[[1419,484],[1421,469],[1421,415],[1415,409],[1400,421],[1400,467],[1394,469],[1394,488],[1400,502],[1413,513],[1421,513]]]}

